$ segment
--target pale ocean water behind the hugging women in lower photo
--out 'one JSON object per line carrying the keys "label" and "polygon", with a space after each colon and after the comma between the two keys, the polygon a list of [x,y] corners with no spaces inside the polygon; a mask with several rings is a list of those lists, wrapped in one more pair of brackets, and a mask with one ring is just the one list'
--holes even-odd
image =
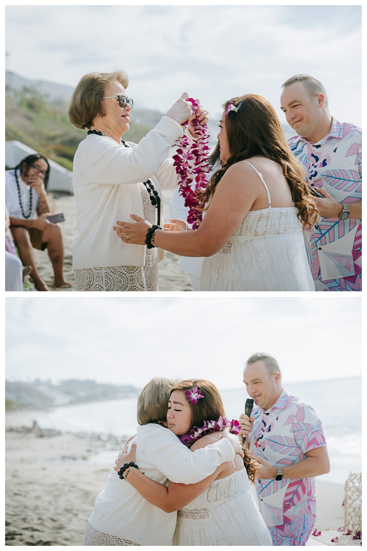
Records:
{"label": "pale ocean water behind the hugging women in lower photo", "polygon": [[[330,473],[320,480],[343,484],[349,472],[361,472],[361,377],[289,383],[287,392],[314,408],[324,428]],[[221,392],[227,418],[238,419],[248,398],[245,388]],[[137,398],[65,406],[36,415],[41,428],[132,436],[136,432]],[[96,463],[114,463],[116,450],[92,457]]]}

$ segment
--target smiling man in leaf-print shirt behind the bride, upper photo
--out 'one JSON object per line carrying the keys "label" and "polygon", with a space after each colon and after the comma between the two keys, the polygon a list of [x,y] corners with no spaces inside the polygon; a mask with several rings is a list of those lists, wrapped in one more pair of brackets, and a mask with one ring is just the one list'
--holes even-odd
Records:
{"label": "smiling man in leaf-print shirt behind the bride, upper photo", "polygon": [[316,290],[361,291],[361,129],[337,121],[327,102],[325,88],[310,75],[283,84],[282,110],[297,132],[289,147],[323,197],[319,223],[304,232]]}

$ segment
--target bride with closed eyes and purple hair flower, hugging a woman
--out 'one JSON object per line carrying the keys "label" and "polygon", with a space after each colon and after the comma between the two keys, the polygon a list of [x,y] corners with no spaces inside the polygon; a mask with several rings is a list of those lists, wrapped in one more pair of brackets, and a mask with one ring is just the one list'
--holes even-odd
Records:
{"label": "bride with closed eyes and purple hair flower, hugging a woman", "polygon": [[[194,399],[193,399],[194,398]],[[220,441],[225,418],[220,393],[212,382],[203,379],[182,381],[172,388],[168,402],[168,428],[190,450],[205,449]],[[217,430],[208,427],[218,420]],[[200,430],[202,429],[202,430]],[[123,461],[134,461],[134,448]],[[127,451],[127,447],[125,449]],[[245,467],[244,468],[244,464]],[[185,490],[168,488],[130,470],[126,480],[149,503],[171,512],[179,509],[173,545],[272,545],[270,532],[262,518],[250,488],[260,466],[244,449],[244,458],[236,454],[232,463],[223,463],[212,477],[203,480],[202,493],[188,503]],[[124,473],[123,473],[124,476]],[[173,495],[171,490],[174,490]]]}

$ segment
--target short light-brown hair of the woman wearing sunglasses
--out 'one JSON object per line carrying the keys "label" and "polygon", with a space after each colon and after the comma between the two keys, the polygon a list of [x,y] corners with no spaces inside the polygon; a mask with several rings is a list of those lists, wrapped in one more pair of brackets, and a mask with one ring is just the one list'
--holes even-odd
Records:
{"label": "short light-brown hair of the woman wearing sunglasses", "polygon": [[69,119],[76,128],[90,128],[92,120],[98,114],[105,116],[103,96],[106,88],[113,82],[128,87],[129,78],[125,71],[113,73],[89,73],[76,85],[69,105]]}

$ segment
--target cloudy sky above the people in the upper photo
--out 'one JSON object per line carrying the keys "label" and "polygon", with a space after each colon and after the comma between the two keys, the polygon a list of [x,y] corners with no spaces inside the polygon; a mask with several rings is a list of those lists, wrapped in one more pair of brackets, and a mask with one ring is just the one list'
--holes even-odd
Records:
{"label": "cloudy sky above the people in the upper photo", "polygon": [[8,6],[9,66],[75,86],[124,68],[135,106],[166,111],[183,91],[212,118],[236,95],[280,110],[282,83],[309,73],[331,114],[361,126],[361,6]]}

